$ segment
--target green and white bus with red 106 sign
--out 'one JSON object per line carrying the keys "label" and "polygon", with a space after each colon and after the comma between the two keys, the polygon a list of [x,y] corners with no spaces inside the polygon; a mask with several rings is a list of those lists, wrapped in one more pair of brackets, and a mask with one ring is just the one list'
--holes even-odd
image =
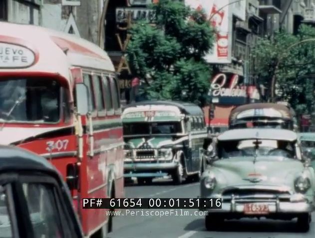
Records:
{"label": "green and white bus with red 106 sign", "polygon": [[122,114],[124,177],[138,184],[171,175],[176,184],[199,180],[204,171],[203,149],[210,144],[202,109],[194,104],[145,101]]}

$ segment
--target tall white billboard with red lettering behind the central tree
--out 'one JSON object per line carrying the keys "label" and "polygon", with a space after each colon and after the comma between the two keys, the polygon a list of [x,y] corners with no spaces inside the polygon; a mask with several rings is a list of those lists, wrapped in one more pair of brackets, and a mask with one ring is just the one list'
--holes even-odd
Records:
{"label": "tall white billboard with red lettering behind the central tree", "polygon": [[215,42],[205,60],[214,64],[231,63],[232,4],[229,5],[229,0],[185,0],[185,4],[196,10],[203,9],[209,24],[215,29]]}

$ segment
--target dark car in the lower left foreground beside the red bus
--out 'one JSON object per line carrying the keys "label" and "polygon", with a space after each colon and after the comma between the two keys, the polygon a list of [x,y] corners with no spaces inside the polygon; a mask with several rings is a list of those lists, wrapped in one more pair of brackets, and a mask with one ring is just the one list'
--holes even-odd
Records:
{"label": "dark car in the lower left foreground beside the red bus", "polygon": [[0,145],[0,238],[81,238],[67,185],[44,158]]}

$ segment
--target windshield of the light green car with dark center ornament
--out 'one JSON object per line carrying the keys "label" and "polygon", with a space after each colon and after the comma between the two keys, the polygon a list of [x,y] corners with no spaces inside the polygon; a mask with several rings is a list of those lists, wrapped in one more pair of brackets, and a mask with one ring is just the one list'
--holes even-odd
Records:
{"label": "windshield of the light green car with dark center ornament", "polygon": [[[256,150],[255,144],[258,143]],[[246,156],[281,156],[295,157],[295,144],[283,140],[238,140],[219,143],[219,157],[246,157]]]}

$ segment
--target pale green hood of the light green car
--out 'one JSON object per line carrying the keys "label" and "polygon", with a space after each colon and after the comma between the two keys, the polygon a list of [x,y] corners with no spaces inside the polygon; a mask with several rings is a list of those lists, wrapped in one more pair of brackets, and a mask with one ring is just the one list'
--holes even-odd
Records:
{"label": "pale green hood of the light green car", "polygon": [[214,162],[211,172],[219,175],[227,186],[286,185],[292,187],[294,178],[304,165],[297,159],[283,157],[235,157]]}

